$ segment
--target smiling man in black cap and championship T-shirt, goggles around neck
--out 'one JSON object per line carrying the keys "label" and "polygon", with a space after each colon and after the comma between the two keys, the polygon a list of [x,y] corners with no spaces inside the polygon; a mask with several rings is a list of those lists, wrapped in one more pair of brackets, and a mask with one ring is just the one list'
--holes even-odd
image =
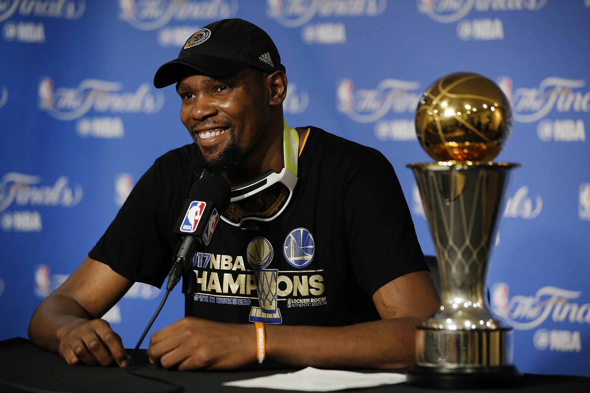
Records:
{"label": "smiling man in black cap and championship T-shirt, goggles around neck", "polygon": [[234,190],[264,185],[233,200],[196,254],[183,276],[186,317],[152,335],[151,361],[235,368],[266,349],[294,365],[411,365],[415,326],[439,299],[386,158],[287,126],[277,48],[241,19],[192,35],[156,72],[156,87],[175,83],[195,143],[138,181],[89,257],[35,311],[31,341],[68,364],[126,365],[119,336],[99,318],[133,282],[162,285],[183,201],[196,179],[217,175]]}

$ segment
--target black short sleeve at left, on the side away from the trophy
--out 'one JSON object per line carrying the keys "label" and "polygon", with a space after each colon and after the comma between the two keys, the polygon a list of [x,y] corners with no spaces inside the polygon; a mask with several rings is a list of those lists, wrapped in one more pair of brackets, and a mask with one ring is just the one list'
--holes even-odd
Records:
{"label": "black short sleeve at left, on the side away from the trophy", "polygon": [[172,229],[188,195],[181,161],[166,156],[156,160],[89,257],[134,282],[162,286],[177,242]]}

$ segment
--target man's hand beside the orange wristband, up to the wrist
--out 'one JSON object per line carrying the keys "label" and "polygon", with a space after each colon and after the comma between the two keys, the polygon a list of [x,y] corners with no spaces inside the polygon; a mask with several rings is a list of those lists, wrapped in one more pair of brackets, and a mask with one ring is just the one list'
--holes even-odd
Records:
{"label": "man's hand beside the orange wristband, up to the wrist", "polygon": [[232,324],[185,317],[153,333],[150,361],[164,368],[230,369],[256,360],[254,323]]}

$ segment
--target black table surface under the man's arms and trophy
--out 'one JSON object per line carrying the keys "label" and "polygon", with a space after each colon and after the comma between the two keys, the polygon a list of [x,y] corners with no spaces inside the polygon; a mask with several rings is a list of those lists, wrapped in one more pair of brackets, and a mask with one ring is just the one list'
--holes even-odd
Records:
{"label": "black table surface under the man's arms and trophy", "polygon": [[[254,365],[235,371],[171,371],[143,362],[139,356],[141,374],[165,378],[181,385],[185,392],[293,392],[264,388],[238,388],[222,385],[223,382],[263,377],[284,372],[294,372],[300,368],[280,364]],[[361,372],[383,372],[383,370],[353,370]],[[398,372],[404,372],[399,370]],[[47,351],[24,338],[0,341],[0,381],[12,382],[31,388],[49,389],[63,392],[99,393],[158,393],[170,389],[161,382],[150,381],[129,374],[117,366],[101,367],[76,365],[68,366],[60,355]],[[565,375],[525,374],[524,386],[507,389],[463,389],[461,392],[590,392],[590,378]],[[362,392],[421,393],[448,392],[412,387],[407,384],[385,385],[375,388],[353,389]],[[0,384],[0,392],[18,390]]]}

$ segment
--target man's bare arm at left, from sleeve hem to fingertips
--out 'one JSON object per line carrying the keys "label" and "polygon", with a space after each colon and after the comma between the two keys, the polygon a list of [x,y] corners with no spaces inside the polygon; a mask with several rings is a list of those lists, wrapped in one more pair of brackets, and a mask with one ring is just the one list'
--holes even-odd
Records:
{"label": "man's bare arm at left, from sleeve hem to fingertips", "polygon": [[133,282],[97,260],[84,262],[37,307],[29,324],[31,342],[59,352],[68,364],[112,364],[128,361],[121,338],[98,319]]}

